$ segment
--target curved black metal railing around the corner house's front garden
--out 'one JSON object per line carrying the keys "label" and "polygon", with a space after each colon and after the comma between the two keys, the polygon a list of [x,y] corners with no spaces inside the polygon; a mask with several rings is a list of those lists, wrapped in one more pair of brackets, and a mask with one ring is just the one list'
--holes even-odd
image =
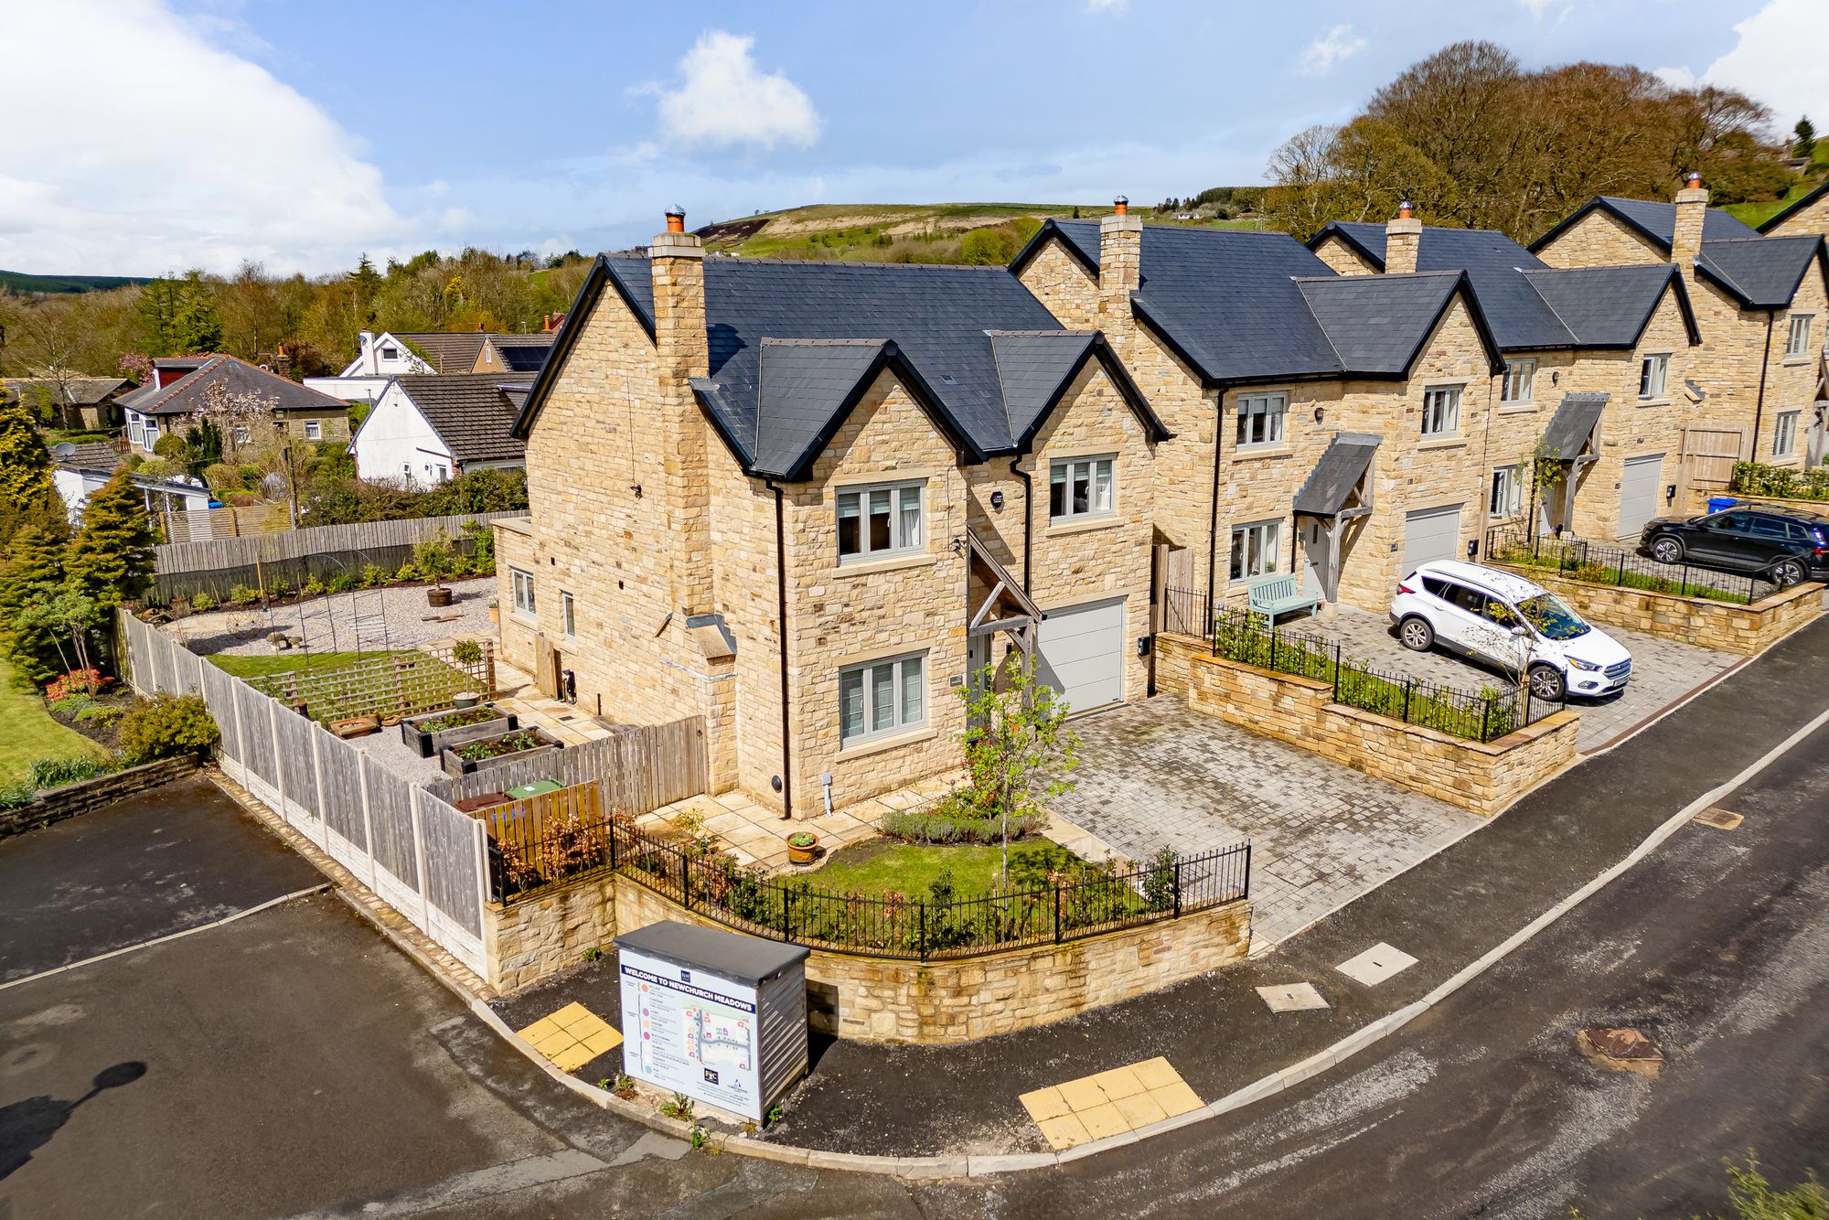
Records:
{"label": "curved black metal railing around the corner house's front garden", "polygon": [[777,880],[757,865],[657,838],[627,818],[572,819],[538,840],[490,841],[496,902],[523,902],[607,871],[755,936],[925,962],[1063,944],[1238,902],[1251,893],[1251,843],[1128,869],[1086,865],[1043,887],[904,896]]}

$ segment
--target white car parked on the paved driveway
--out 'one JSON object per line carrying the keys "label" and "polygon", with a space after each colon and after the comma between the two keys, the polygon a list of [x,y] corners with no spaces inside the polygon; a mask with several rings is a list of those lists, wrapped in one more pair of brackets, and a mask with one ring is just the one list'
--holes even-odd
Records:
{"label": "white car parked on the paved driveway", "polygon": [[1631,680],[1631,653],[1524,576],[1478,563],[1423,563],[1390,600],[1397,640],[1441,644],[1503,668],[1538,699],[1610,695]]}

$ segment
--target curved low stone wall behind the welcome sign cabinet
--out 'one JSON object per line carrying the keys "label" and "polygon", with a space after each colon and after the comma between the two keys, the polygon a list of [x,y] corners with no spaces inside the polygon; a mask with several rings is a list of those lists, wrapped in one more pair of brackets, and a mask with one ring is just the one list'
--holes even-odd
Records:
{"label": "curved low stone wall behind the welcome sign cabinet", "polygon": [[[616,927],[660,920],[722,927],[633,882],[616,887]],[[964,960],[814,949],[807,958],[808,1013],[816,1030],[861,1043],[966,1043],[1160,991],[1242,960],[1249,946],[1251,904],[1244,900],[1063,946]]]}

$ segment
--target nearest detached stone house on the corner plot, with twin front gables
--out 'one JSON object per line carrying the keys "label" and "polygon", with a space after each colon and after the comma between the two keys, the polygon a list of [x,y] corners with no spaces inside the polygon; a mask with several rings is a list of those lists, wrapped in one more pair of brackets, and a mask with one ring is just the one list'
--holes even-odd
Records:
{"label": "nearest detached stone house on the corner plot, with twin front gables", "polygon": [[1112,346],[1002,267],[593,265],[514,426],[508,660],[607,719],[702,715],[711,790],[790,816],[958,765],[958,693],[1032,655],[1147,693],[1156,455]]}

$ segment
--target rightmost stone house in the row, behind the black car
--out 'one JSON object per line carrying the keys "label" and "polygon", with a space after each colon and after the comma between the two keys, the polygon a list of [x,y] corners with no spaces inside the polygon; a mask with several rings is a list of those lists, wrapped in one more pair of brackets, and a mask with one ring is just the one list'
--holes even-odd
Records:
{"label": "rightmost stone house in the row, behind the black car", "polygon": [[1675,267],[1701,333],[1686,448],[1802,465],[1829,324],[1822,236],[1761,236],[1710,209],[1692,176],[1675,203],[1595,198],[1531,252],[1551,267]]}

